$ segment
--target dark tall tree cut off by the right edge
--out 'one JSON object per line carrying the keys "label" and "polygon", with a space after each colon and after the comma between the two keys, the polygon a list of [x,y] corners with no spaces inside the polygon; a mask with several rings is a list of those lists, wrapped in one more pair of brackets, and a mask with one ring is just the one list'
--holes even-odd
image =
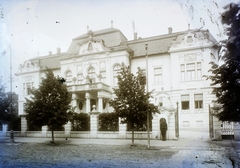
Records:
{"label": "dark tall tree cut off by the right edge", "polygon": [[212,75],[207,79],[215,86],[215,103],[220,104],[216,116],[221,121],[240,122],[240,4],[231,3],[222,14],[227,40],[222,42],[220,52],[223,64],[211,62]]}

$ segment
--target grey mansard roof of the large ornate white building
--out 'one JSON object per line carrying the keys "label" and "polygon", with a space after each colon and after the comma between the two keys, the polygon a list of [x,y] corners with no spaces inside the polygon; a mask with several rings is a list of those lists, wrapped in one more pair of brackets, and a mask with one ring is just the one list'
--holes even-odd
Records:
{"label": "grey mansard roof of the large ornate white building", "polygon": [[104,46],[107,48],[119,49],[126,46],[124,49],[128,48],[129,50],[133,51],[133,57],[146,55],[145,44],[148,44],[149,55],[167,53],[169,52],[172,44],[181,42],[183,37],[189,32],[195,34],[202,32],[204,38],[208,39],[213,44],[217,44],[217,41],[213,38],[208,30],[194,29],[127,41],[127,38],[122,34],[120,30],[115,28],[107,28],[99,31],[90,30],[88,33],[74,38],[68,51],[65,53],[35,57],[30,59],[30,61],[37,60],[39,62],[39,66],[43,69],[45,69],[45,67],[51,69],[60,68],[60,59],[63,56],[78,53],[79,43],[88,41],[88,38],[102,40]]}

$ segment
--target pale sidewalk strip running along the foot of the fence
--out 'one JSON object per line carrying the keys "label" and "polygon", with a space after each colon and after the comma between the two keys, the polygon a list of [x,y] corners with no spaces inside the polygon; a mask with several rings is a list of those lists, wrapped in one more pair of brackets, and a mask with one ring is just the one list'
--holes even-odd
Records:
{"label": "pale sidewalk strip running along the foot of the fence", "polygon": [[[50,142],[51,138],[31,138],[31,137],[14,137],[16,143],[47,143]],[[92,138],[54,138],[58,143],[66,144],[95,144],[95,145],[131,145],[131,139],[92,139]],[[0,137],[1,142],[10,142],[10,137]],[[135,145],[148,146],[147,139],[135,139]],[[206,149],[206,150],[224,150],[225,148],[232,148],[233,151],[239,153],[240,158],[240,141],[234,140],[222,140],[222,141],[211,141],[211,140],[194,140],[194,139],[179,139],[179,140],[150,140],[150,147],[168,147],[171,149]]]}

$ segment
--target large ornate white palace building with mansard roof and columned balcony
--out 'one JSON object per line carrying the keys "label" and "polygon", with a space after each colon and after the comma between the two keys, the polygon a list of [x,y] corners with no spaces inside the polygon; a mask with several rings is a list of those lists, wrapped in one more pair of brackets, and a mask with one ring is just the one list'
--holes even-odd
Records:
{"label": "large ornate white palace building with mansard roof and columned balcony", "polygon": [[[209,137],[209,105],[215,96],[211,94],[211,81],[203,76],[209,74],[209,63],[218,61],[219,46],[208,30],[168,31],[148,38],[138,38],[134,33],[128,40],[113,27],[89,30],[73,38],[66,52],[57,48],[54,54],[26,60],[17,72],[22,132],[27,131],[25,97],[31,88],[38,87],[46,67],[66,79],[77,113],[90,113],[94,105],[102,113],[113,112],[108,102],[114,97],[117,74],[124,63],[133,74],[138,67],[148,73],[151,101],[160,112],[152,120],[152,139],[160,137],[161,118],[167,121],[168,139]],[[119,127],[116,137],[120,132],[121,137],[128,137],[125,128]],[[92,137],[100,137],[94,131]]]}

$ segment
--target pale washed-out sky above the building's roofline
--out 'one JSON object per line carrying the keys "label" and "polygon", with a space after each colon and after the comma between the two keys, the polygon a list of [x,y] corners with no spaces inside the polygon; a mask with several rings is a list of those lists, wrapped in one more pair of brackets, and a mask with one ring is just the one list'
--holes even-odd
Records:
{"label": "pale washed-out sky above the building's roofline", "polygon": [[17,92],[18,66],[27,59],[66,52],[71,40],[92,31],[113,27],[128,40],[188,29],[208,29],[220,41],[220,15],[230,0],[0,0],[0,79]]}

